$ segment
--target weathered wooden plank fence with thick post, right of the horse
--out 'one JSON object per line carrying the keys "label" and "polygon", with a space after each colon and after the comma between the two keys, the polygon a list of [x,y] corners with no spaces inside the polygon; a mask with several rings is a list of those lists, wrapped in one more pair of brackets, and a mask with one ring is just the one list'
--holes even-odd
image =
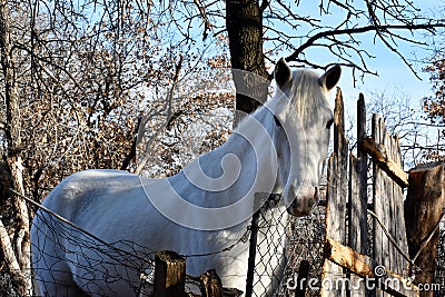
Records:
{"label": "weathered wooden plank fence with thick post, right of the horse", "polygon": [[[357,157],[349,155],[339,89],[334,113],[322,296],[433,296],[433,291],[419,290],[413,280],[414,284],[432,281],[432,277],[423,276],[425,271],[432,274],[438,224],[443,218],[443,165],[411,170],[408,182],[408,175],[402,169],[398,137],[389,136],[377,115],[372,118],[372,136],[366,136],[362,95],[357,101]],[[370,187],[368,156],[373,161]],[[436,182],[428,184],[418,177],[425,175]],[[408,185],[404,207],[403,190]]]}

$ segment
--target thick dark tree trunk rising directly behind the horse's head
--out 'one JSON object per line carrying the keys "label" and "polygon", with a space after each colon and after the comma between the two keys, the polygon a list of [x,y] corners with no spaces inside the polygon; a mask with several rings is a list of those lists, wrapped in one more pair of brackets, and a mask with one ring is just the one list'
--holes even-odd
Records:
{"label": "thick dark tree trunk rising directly behind the horse's head", "polygon": [[[267,99],[269,79],[263,52],[263,10],[258,0],[227,0],[226,26],[236,93],[235,125]],[[255,76],[253,76],[254,73]],[[258,79],[264,78],[264,80]]]}

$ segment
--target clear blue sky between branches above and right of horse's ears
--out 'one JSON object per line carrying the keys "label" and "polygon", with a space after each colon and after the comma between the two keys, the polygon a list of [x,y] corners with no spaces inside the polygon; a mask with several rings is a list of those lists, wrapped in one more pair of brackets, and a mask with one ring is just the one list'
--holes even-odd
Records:
{"label": "clear blue sky between branches above and right of horse's ears", "polygon": [[[293,10],[297,13],[301,13],[301,16],[310,16],[312,18],[320,19],[323,26],[325,28],[335,28],[337,27],[346,16],[344,10],[336,9],[334,4],[329,7],[329,14],[320,16],[319,12],[319,1],[309,1],[309,0],[300,0],[299,7],[294,7],[295,3],[290,1],[289,3],[293,6]],[[273,2],[270,2],[273,3]],[[405,1],[400,1],[400,4],[404,4]],[[326,4],[326,3],[325,3]],[[358,7],[362,6],[362,9],[366,10],[363,6],[365,6],[365,1],[355,1],[354,6]],[[414,1],[414,4],[417,8],[421,8],[423,16],[434,16],[435,18],[444,18],[444,2],[443,0],[422,0],[422,1]],[[359,19],[362,24],[366,26],[368,20],[366,18]],[[365,23],[363,23],[365,22]],[[281,31],[288,32],[289,34],[305,34],[303,31],[305,30],[313,30],[314,28],[305,28],[298,27],[298,31],[293,31],[295,29],[290,27],[286,27],[286,24],[281,24],[279,22],[275,23],[275,21],[270,21],[267,23],[268,26],[279,27]],[[283,27],[281,27],[283,26]],[[316,29],[313,31],[314,34],[318,31],[323,31],[324,28]],[[402,36],[406,38],[414,38],[416,41],[425,41],[431,43],[432,40],[426,39],[424,32],[413,32],[413,36],[408,31],[397,31]],[[266,32],[267,34],[267,32]],[[421,62],[411,61],[414,65],[414,69],[416,70],[417,75],[422,78],[419,80],[412,70],[403,62],[403,60],[394,53],[390,49],[388,49],[378,38],[375,39],[375,33],[365,33],[365,34],[357,34],[355,36],[357,40],[362,42],[360,49],[366,50],[370,55],[373,55],[374,59],[366,59],[366,65],[368,69],[373,72],[377,72],[378,76],[366,75],[364,80],[362,81],[359,78],[359,73],[357,75],[357,80],[354,83],[353,79],[353,71],[352,69],[344,68],[343,77],[339,82],[339,87],[343,89],[344,98],[347,105],[353,105],[358,98],[359,92],[365,93],[365,98],[369,96],[370,92],[385,92],[388,96],[403,95],[409,96],[412,101],[413,108],[421,109],[421,100],[422,98],[429,96],[432,93],[432,85],[429,82],[429,75],[422,71],[422,69],[426,66],[426,61],[428,58],[432,57],[431,49],[422,48],[421,46],[407,43],[403,41],[397,41],[397,49],[404,55],[405,59],[407,60],[419,60]],[[301,39],[304,42],[305,39]],[[390,40],[389,40],[390,41]],[[438,38],[436,40],[441,41]],[[291,42],[298,42],[295,39]],[[267,43],[265,43],[265,48],[267,48]],[[279,53],[280,56],[287,57],[290,52],[283,51]],[[315,63],[330,63],[336,62],[336,57],[329,56],[326,52],[326,49],[316,49],[309,48],[305,51],[306,57],[309,58],[310,61]],[[353,53],[354,55],[354,53]],[[354,61],[359,62],[358,58],[353,58]]]}

